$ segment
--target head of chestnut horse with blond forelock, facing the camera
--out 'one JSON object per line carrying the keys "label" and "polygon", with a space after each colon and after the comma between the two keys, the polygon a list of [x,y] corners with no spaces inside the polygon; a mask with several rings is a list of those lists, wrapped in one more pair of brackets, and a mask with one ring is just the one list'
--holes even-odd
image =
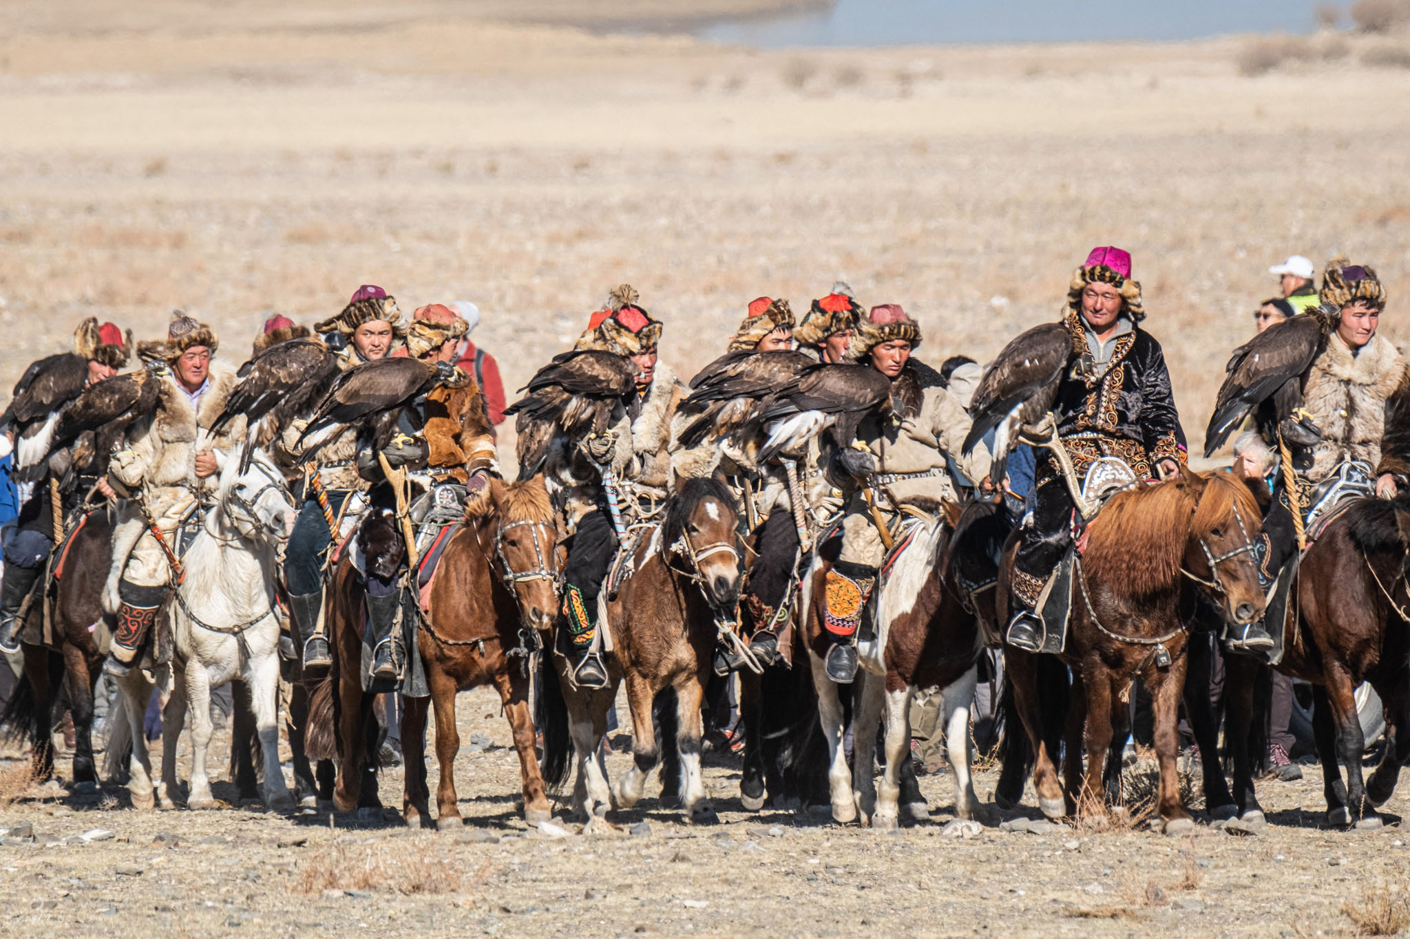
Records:
{"label": "head of chestnut horse with blond forelock, facing the camera", "polygon": [[525,625],[547,634],[558,610],[564,555],[543,474],[517,483],[491,479],[484,508],[495,518],[492,563],[499,579],[513,591]]}

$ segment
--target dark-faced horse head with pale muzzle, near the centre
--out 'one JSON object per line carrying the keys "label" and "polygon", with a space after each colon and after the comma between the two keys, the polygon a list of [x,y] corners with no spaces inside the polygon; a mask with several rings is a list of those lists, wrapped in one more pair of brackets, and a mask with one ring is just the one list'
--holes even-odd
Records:
{"label": "dark-faced horse head with pale muzzle, near the centre", "polygon": [[699,583],[712,607],[735,610],[742,580],[739,511],[723,483],[687,480],[666,510],[661,542]]}

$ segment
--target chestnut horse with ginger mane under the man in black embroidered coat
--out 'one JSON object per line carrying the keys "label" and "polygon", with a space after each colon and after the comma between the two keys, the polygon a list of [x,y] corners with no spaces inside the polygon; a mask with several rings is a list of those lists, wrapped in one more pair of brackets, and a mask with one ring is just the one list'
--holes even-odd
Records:
{"label": "chestnut horse with ginger mane under the man in black embroidered coat", "polygon": [[[1139,677],[1153,701],[1160,818],[1166,831],[1193,825],[1180,801],[1175,766],[1187,642],[1182,594],[1190,600],[1189,591],[1203,591],[1231,622],[1262,617],[1251,541],[1258,518],[1253,493],[1237,477],[1186,472],[1112,496],[1093,519],[1073,572],[1067,642],[1059,656],[1072,669],[1066,794],[1058,783],[1055,755],[1043,741],[1036,656],[1004,650],[1015,705],[1035,753],[1034,787],[1043,814],[1058,818],[1074,808],[1083,814],[1105,811],[1103,773],[1112,729],[1127,729],[1129,687]],[[1005,550],[1000,574],[1001,622],[1008,614],[1015,549],[1017,539]]]}

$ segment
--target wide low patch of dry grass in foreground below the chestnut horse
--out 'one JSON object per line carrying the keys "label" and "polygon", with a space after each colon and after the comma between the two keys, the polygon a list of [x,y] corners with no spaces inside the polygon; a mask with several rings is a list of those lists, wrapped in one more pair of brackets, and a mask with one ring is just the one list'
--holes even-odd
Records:
{"label": "wide low patch of dry grass in foreground below the chestnut horse", "polygon": [[381,890],[398,894],[457,894],[484,883],[489,864],[471,876],[454,857],[420,839],[372,845],[338,840],[299,864],[295,890]]}

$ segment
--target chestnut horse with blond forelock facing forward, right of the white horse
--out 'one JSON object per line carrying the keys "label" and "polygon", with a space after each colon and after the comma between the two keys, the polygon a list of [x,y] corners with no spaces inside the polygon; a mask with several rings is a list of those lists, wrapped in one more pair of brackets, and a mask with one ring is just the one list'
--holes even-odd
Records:
{"label": "chestnut horse with blond forelock facing forward, right of the white horse", "polygon": [[[551,818],[534,753],[529,710],[529,659],[551,641],[563,577],[558,528],[543,476],[519,483],[489,481],[467,507],[465,527],[446,546],[430,583],[429,615],[419,646],[436,708],[437,828],[462,825],[455,795],[455,693],[492,684],[513,731],[523,783],[525,821]],[[402,719],[406,824],[430,824],[426,760],[426,698],[407,698]]]}

